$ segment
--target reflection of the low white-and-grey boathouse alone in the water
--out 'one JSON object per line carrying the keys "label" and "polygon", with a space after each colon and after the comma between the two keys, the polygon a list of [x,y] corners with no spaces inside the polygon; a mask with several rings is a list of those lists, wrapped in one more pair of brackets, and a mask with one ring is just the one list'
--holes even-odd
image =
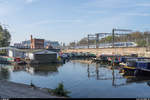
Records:
{"label": "reflection of the low white-and-grey boathouse alone in the water", "polygon": [[60,64],[39,64],[39,65],[4,65],[1,68],[7,69],[10,72],[25,71],[30,74],[47,76],[49,74],[56,74]]}

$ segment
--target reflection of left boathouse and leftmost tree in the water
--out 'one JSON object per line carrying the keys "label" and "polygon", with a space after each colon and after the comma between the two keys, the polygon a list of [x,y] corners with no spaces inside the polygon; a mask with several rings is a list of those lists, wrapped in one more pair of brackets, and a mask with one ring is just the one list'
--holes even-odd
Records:
{"label": "reflection of left boathouse and leftmost tree in the water", "polygon": [[0,77],[1,79],[9,79],[10,72],[24,71],[32,75],[48,76],[58,73],[58,67],[61,64],[48,64],[48,65],[1,65]]}

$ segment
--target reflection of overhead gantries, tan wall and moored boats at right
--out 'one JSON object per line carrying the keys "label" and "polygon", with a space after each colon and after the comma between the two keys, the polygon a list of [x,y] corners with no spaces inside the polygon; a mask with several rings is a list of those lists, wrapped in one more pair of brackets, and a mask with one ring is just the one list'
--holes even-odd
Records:
{"label": "reflection of overhead gantries, tan wall and moored boats at right", "polygon": [[[74,62],[78,62],[77,60]],[[119,73],[119,66],[107,66],[95,64],[95,67],[90,68],[90,63],[87,61],[79,61],[82,64],[87,64],[87,76],[88,78],[95,78],[96,80],[112,80],[113,87],[125,86],[131,83],[147,83],[150,86],[150,77],[144,76],[134,76],[133,73],[124,73],[121,75]],[[95,69],[95,71],[93,71]],[[108,75],[110,74],[111,75]],[[115,80],[125,79],[125,83],[118,84]]]}

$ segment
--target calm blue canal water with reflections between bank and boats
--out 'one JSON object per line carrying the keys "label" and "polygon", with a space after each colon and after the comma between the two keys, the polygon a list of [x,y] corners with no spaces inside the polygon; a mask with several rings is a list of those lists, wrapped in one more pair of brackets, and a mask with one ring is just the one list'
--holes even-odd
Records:
{"label": "calm blue canal water with reflections between bank and boats", "polygon": [[56,88],[63,82],[72,98],[149,98],[150,77],[122,76],[119,69],[72,60],[65,64],[1,65],[0,79],[38,87]]}

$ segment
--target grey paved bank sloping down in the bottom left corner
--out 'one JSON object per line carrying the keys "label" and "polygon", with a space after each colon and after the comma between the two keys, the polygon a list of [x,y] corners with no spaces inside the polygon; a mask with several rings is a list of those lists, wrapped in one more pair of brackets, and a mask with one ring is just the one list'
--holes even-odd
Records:
{"label": "grey paved bank sloping down in the bottom left corner", "polygon": [[52,96],[46,89],[0,80],[0,98],[60,98]]}

